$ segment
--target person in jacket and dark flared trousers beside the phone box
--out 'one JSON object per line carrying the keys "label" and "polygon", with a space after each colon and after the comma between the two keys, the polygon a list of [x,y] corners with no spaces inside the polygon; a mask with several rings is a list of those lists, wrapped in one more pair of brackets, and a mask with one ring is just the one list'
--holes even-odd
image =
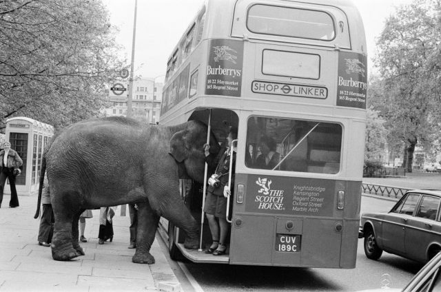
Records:
{"label": "person in jacket and dark flared trousers beside the phone box", "polygon": [[19,167],[23,165],[19,154],[11,149],[11,143],[6,141],[3,144],[4,149],[0,151],[0,207],[3,201],[3,191],[6,185],[6,178],[9,179],[11,188],[11,199],[9,207],[19,207],[19,196],[17,196],[17,189],[15,189],[15,177],[21,174]]}

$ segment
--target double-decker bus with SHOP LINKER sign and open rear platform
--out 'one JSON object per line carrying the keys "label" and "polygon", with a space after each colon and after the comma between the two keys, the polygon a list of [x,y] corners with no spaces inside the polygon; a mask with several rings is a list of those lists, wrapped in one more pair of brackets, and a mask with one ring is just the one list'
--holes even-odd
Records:
{"label": "double-decker bus with SHOP LINKER sign and open rear platform", "polygon": [[351,1],[206,1],[168,60],[161,124],[203,121],[224,144],[237,127],[231,229],[225,255],[203,252],[212,242],[201,211],[206,186],[182,179],[201,249],[185,249],[183,231],[162,218],[172,258],[354,268],[366,66]]}

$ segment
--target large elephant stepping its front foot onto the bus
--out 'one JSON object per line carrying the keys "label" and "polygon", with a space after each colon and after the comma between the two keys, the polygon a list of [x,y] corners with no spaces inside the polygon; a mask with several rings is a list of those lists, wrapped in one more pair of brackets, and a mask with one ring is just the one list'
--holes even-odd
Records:
{"label": "large elephant stepping its front foot onto the bus", "polygon": [[[46,172],[55,217],[52,258],[84,255],[78,220],[85,209],[134,202],[139,209],[132,262],[154,263],[150,247],[161,216],[185,231],[185,248],[198,249],[198,223],[181,199],[178,180],[203,182],[206,142],[207,125],[200,121],[165,127],[107,117],[63,130],[45,151],[40,176],[39,200]],[[218,154],[213,133],[209,144],[210,153]]]}

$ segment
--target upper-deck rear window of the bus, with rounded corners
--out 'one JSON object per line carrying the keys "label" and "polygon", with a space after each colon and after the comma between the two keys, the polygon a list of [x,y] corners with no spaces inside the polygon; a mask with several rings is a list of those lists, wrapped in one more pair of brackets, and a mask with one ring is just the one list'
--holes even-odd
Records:
{"label": "upper-deck rear window of the bus, with rounded corners", "polygon": [[331,41],[334,26],[329,14],[316,10],[256,4],[247,15],[247,28],[256,34]]}

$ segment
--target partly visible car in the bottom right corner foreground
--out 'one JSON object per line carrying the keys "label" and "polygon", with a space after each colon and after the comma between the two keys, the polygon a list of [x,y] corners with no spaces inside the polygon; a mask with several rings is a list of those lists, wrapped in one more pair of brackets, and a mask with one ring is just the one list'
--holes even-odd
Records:
{"label": "partly visible car in the bottom right corner foreground", "polygon": [[[369,289],[358,292],[436,292],[441,291],[441,253],[436,254],[413,276],[404,289],[389,289],[389,281],[382,282],[381,289]],[[387,290],[384,290],[387,289]]]}

